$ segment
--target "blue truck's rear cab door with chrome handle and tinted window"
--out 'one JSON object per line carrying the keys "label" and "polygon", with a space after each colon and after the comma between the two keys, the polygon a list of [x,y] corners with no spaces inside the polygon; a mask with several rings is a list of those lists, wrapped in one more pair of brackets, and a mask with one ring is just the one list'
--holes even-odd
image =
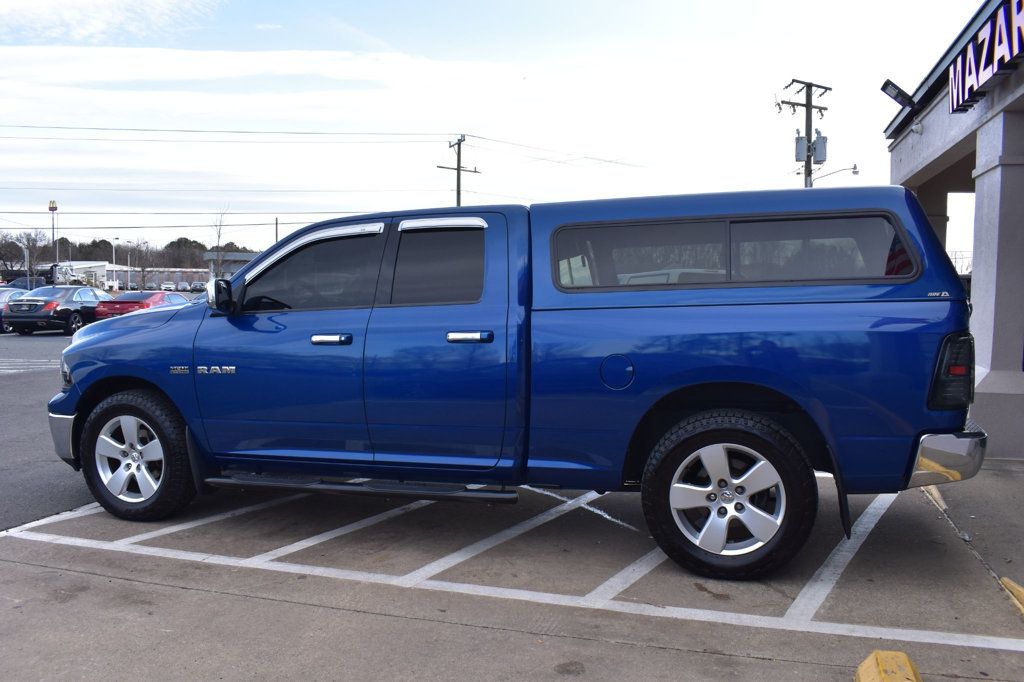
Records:
{"label": "blue truck's rear cab door with chrome handle and tinted window", "polygon": [[508,244],[496,213],[391,230],[367,331],[374,461],[492,467],[505,426]]}

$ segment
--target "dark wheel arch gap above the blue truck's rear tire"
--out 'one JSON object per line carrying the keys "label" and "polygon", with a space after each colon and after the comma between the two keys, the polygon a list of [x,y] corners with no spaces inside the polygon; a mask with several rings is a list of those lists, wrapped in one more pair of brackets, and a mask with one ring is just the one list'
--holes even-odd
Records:
{"label": "dark wheel arch gap above the blue truck's rear tire", "polygon": [[623,485],[639,484],[651,450],[673,425],[690,415],[715,409],[748,410],[770,417],[797,438],[815,470],[834,474],[839,481],[838,463],[824,431],[797,399],[762,384],[725,381],[678,388],[650,407],[630,437],[623,465]]}

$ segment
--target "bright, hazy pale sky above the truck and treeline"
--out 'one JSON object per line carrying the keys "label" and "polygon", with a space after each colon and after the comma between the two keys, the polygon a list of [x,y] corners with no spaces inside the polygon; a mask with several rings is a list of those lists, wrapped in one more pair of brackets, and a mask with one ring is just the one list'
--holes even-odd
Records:
{"label": "bright, hazy pale sky above the truck and treeline", "polygon": [[2,0],[0,230],[55,200],[73,241],[263,249],[274,218],[454,205],[460,134],[464,205],[800,187],[794,78],[833,88],[817,186],[886,184],[882,82],[912,92],[978,6]]}

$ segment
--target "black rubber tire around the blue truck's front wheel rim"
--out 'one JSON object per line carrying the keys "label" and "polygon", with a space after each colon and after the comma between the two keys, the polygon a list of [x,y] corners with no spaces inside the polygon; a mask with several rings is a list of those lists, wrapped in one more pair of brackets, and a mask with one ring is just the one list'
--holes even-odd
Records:
{"label": "black rubber tire around the blue truck's front wheel rim", "polygon": [[[162,446],[163,461],[159,465],[157,478],[159,482],[156,492],[144,500],[121,499],[108,489],[100,477],[98,461],[106,460],[105,466],[110,467],[113,458],[97,457],[97,439],[104,426],[120,417],[141,420],[146,431],[152,430],[152,435],[156,436]],[[127,441],[127,438],[124,440]],[[97,404],[82,427],[79,453],[82,472],[93,497],[103,509],[120,518],[156,521],[182,510],[196,497],[196,484],[185,444],[184,421],[174,406],[156,391],[130,390],[115,393]],[[130,464],[127,459],[124,462],[126,465]],[[136,462],[136,465],[145,466],[145,463]],[[125,491],[125,494],[128,495],[129,492]]]}

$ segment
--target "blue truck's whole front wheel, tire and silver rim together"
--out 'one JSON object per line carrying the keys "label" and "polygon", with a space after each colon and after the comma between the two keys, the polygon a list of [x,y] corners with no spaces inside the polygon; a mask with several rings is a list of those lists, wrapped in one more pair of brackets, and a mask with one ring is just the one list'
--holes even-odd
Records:
{"label": "blue truck's whole front wheel, tire and silver rim together", "polygon": [[124,391],[96,406],[82,427],[80,452],[89,489],[115,516],[165,518],[196,495],[184,422],[154,391]]}

